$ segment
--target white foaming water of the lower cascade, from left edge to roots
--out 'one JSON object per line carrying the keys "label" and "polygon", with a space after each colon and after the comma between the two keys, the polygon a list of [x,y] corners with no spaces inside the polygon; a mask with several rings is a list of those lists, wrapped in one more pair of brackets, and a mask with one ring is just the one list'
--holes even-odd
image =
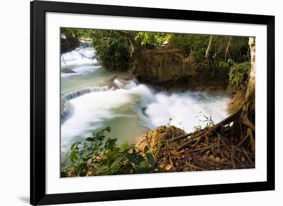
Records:
{"label": "white foaming water of the lower cascade, from left edge to roots", "polygon": [[[74,108],[73,115],[69,115],[61,125],[61,137],[67,139],[67,145],[82,140],[110,123],[119,125],[122,122],[117,121],[124,120],[134,123],[137,119],[140,127],[152,130],[167,125],[169,118],[172,118],[171,125],[190,132],[194,126],[205,126],[206,122],[199,121],[205,119],[203,115],[211,116],[215,123],[225,118],[226,106],[231,99],[220,93],[156,93],[148,86],[138,84],[136,79],[115,79],[114,83],[119,89],[85,87],[62,96]],[[127,127],[127,123],[119,129],[137,135],[137,132],[131,131],[131,126],[124,127]]]}

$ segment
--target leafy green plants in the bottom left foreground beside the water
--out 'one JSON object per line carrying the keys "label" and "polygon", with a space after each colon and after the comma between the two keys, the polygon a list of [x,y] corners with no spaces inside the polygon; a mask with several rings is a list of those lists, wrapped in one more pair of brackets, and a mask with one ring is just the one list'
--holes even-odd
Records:
{"label": "leafy green plants in the bottom left foreground beside the water", "polygon": [[103,146],[104,132],[110,131],[111,128],[107,127],[93,133],[84,142],[75,142],[61,162],[61,177],[141,174],[161,170],[155,164],[154,151],[149,152],[147,146],[139,150],[127,141],[117,146],[117,139],[112,138],[108,138]]}

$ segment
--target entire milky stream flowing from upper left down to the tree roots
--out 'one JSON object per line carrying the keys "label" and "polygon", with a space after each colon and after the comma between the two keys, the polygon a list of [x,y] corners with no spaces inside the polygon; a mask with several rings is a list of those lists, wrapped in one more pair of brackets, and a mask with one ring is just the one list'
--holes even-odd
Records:
{"label": "entire milky stream flowing from upper left down to the tree roots", "polygon": [[65,100],[61,112],[62,151],[107,126],[112,130],[108,137],[118,138],[118,143],[135,143],[149,130],[167,125],[169,118],[171,125],[190,132],[195,126],[206,125],[203,115],[211,116],[215,123],[227,116],[231,96],[223,93],[156,92],[136,79],[119,77],[114,80],[116,89],[99,87],[111,77],[126,73],[96,66],[95,59],[84,57],[93,56],[90,48],[76,50],[61,56],[61,68],[76,72],[61,72],[61,99]]}

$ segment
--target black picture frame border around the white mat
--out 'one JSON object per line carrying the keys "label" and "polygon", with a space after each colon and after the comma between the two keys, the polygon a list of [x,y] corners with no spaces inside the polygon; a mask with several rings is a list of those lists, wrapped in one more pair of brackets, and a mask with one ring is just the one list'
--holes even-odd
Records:
{"label": "black picture frame border around the white mat", "polygon": [[[99,14],[267,25],[267,181],[46,194],[45,13]],[[30,204],[46,205],[275,190],[275,16],[95,4],[30,3]]]}

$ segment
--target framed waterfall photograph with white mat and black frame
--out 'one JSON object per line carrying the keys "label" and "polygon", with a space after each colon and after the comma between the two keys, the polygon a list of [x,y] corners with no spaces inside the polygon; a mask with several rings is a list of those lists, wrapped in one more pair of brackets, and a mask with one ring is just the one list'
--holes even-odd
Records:
{"label": "framed waterfall photograph with white mat and black frame", "polygon": [[275,189],[275,17],[30,3],[30,203]]}

